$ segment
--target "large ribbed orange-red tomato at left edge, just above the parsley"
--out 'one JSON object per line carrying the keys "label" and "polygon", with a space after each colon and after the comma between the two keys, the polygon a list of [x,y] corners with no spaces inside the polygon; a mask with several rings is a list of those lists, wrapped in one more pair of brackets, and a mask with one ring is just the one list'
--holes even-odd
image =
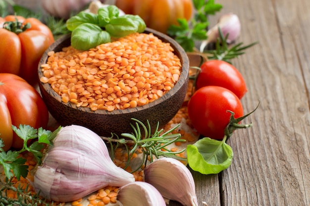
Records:
{"label": "large ribbed orange-red tomato at left edge, just above the parsley", "polygon": [[23,140],[12,130],[12,124],[45,128],[49,112],[37,90],[13,74],[0,74],[0,138],[5,151],[22,148]]}

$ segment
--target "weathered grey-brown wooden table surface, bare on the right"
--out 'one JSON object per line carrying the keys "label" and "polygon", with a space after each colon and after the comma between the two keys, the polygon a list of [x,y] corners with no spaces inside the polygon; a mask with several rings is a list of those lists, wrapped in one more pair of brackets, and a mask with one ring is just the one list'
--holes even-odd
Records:
{"label": "weathered grey-brown wooden table surface, bare on the right", "polygon": [[[193,171],[208,206],[310,206],[310,1],[217,0],[242,24],[238,41],[259,41],[233,60],[248,93],[245,120],[228,144],[231,166],[215,175]],[[177,205],[172,203],[170,205]]]}

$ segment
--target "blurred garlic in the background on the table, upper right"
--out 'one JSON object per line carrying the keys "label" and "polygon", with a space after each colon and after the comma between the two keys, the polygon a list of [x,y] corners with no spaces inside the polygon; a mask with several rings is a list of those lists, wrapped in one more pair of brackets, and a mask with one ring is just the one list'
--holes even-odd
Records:
{"label": "blurred garlic in the background on the table, upper right", "polygon": [[236,14],[227,13],[222,15],[219,18],[218,23],[207,31],[207,40],[201,43],[200,52],[204,51],[208,43],[215,42],[217,40],[219,37],[218,28],[221,29],[224,37],[228,34],[228,38],[226,40],[227,43],[232,43],[240,35],[241,23]]}

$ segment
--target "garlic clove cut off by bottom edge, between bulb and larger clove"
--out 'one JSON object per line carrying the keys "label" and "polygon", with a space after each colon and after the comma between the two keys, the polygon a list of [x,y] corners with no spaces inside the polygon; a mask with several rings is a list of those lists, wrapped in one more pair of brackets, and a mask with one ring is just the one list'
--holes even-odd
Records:
{"label": "garlic clove cut off by bottom edge, between bulb and larger clove", "polygon": [[132,182],[117,191],[120,206],[166,206],[154,186],[146,182]]}

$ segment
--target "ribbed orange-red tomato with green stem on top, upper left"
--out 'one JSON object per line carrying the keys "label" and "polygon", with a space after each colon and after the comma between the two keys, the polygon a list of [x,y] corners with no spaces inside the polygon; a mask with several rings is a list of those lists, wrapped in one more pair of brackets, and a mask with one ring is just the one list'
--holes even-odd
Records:
{"label": "ribbed orange-red tomato with green stem on top, upper left", "polygon": [[[16,23],[15,18],[21,23],[19,27],[27,23],[31,27],[25,31],[14,31],[15,27],[2,28],[4,22]],[[38,19],[14,15],[0,17],[0,73],[15,74],[34,84],[39,61],[53,41],[51,30]]]}

